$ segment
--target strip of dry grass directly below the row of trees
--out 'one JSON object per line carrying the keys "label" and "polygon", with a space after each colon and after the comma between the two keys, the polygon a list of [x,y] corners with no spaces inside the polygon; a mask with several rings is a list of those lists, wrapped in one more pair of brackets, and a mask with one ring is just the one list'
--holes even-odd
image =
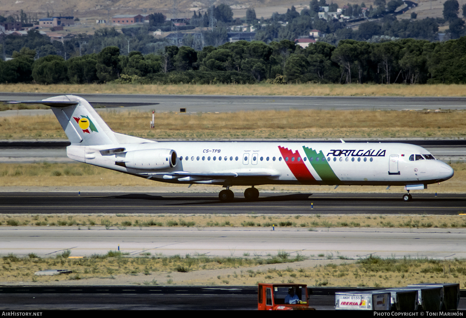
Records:
{"label": "strip of dry grass directly below the row of trees", "polygon": [[1,84],[0,92],[196,94],[196,95],[291,95],[291,96],[466,96],[464,85],[288,84],[274,85],[132,85],[132,84]]}

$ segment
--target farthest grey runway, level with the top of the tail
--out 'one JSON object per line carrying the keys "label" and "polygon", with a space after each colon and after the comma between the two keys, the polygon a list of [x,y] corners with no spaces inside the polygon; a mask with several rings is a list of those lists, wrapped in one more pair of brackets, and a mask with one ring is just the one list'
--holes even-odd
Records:
{"label": "farthest grey runway, level with the top of the tail", "polygon": [[[1,100],[40,100],[62,93],[0,93]],[[78,94],[94,107],[117,106],[112,111],[238,112],[251,110],[422,110],[465,109],[465,97],[370,97],[370,96],[236,96]],[[105,111],[101,108],[99,111]],[[0,116],[52,113],[50,110],[3,111]]]}

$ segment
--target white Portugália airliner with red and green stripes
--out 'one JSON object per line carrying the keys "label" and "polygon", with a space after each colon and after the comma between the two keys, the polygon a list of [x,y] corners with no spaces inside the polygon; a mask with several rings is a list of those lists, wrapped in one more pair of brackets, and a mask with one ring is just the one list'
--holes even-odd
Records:
{"label": "white Portug\u00e1lia airliner with red and green stripes", "polygon": [[[83,98],[62,95],[16,103],[52,107],[68,136],[70,159],[169,183],[226,188],[259,185],[405,186],[410,190],[452,178],[453,169],[422,147],[402,143],[156,142],[114,133]],[[163,123],[161,123],[163,125]]]}

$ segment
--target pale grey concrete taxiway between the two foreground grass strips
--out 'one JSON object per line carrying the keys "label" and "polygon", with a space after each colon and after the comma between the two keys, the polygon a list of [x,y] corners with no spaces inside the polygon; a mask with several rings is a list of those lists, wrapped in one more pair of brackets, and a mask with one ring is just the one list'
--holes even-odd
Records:
{"label": "pale grey concrete taxiway between the two foreground grass strips", "polygon": [[359,258],[380,257],[465,258],[466,229],[397,228],[169,228],[127,227],[106,230],[66,227],[0,227],[0,254],[40,257],[55,256],[70,249],[73,256],[106,254],[117,250],[130,255],[142,252],[161,255],[254,256],[276,255],[285,251],[309,259],[319,254]]}

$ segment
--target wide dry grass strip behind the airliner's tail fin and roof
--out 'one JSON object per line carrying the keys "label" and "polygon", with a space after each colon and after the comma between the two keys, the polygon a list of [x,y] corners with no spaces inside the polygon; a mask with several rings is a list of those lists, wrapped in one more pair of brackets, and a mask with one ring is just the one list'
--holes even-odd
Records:
{"label": "wide dry grass strip behind the airliner's tail fin and roof", "polygon": [[[466,112],[289,110],[237,113],[151,113],[100,111],[117,133],[150,139],[460,137]],[[66,139],[55,116],[0,118],[0,139]]]}

